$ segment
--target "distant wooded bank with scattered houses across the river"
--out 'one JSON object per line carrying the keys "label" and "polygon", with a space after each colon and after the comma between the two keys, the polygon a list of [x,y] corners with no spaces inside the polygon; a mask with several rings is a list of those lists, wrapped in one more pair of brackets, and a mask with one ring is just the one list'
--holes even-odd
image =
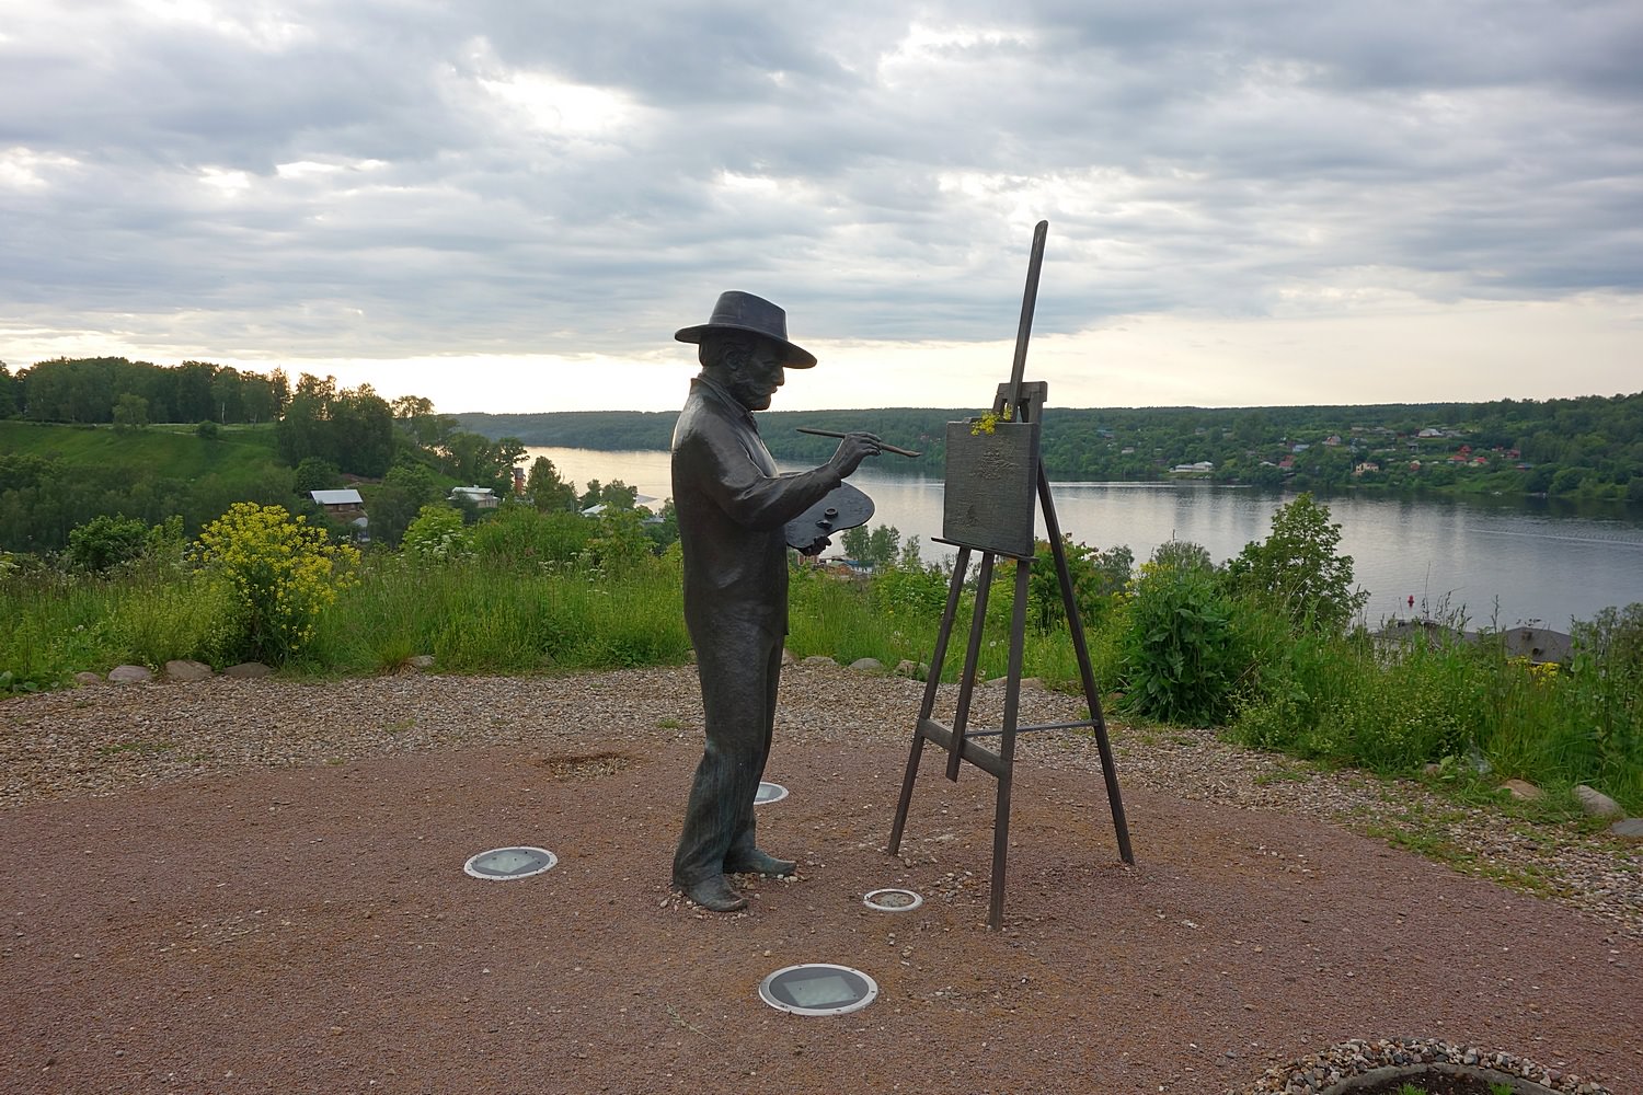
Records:
{"label": "distant wooded bank with scattered houses across the river", "polygon": [[[825,460],[836,442],[797,427],[872,430],[925,453],[940,474],[946,424],[981,409],[766,410],[782,460]],[[672,412],[460,414],[463,428],[526,445],[667,448]],[[1372,407],[1106,407],[1043,414],[1045,470],[1063,483],[1199,478],[1341,491],[1549,494],[1643,504],[1643,392],[1579,399]]]}

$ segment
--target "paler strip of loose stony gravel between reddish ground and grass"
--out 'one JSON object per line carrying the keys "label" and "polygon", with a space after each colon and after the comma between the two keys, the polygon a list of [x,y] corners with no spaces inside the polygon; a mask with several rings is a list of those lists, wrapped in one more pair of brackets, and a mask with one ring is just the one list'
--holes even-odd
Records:
{"label": "paler strip of loose stony gravel between reddish ground and grass", "polygon": [[[784,744],[905,744],[923,685],[817,663],[784,675],[777,740]],[[955,690],[943,686],[951,709]],[[991,701],[991,706],[989,706]],[[1002,688],[978,691],[973,722],[999,717]],[[102,685],[18,698],[3,706],[0,808],[39,798],[107,795],[246,765],[319,765],[458,745],[654,740],[702,724],[692,667],[572,678],[450,678],[401,675],[294,685],[279,680],[197,685]],[[1022,724],[1078,719],[1083,701],[1029,686]],[[1359,832],[1421,819],[1426,836],[1470,870],[1615,923],[1643,939],[1643,855],[1572,827],[1512,824],[1500,813],[1456,804],[1413,781],[1319,772],[1291,758],[1239,749],[1213,731],[1127,729],[1112,724],[1122,786],[1190,801],[1291,813]],[[1022,760],[1101,770],[1094,740],[1022,735]]]}

